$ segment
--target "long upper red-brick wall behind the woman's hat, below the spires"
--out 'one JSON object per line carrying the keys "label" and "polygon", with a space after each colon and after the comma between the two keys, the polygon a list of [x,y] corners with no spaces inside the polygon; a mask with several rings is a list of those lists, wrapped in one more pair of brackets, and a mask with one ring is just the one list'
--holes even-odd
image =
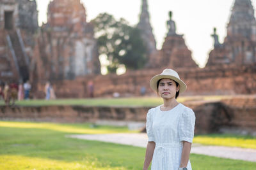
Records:
{"label": "long upper red-brick wall behind the woman's hat, below the spires", "polygon": [[[52,81],[52,83],[57,97],[61,98],[89,97],[89,81],[93,81],[95,97],[112,97],[114,92],[118,92],[123,97],[141,96],[142,87],[146,88],[145,95],[156,96],[149,87],[149,81],[162,71],[163,69],[148,69],[128,71],[120,76],[115,74],[80,76],[76,80]],[[177,72],[188,85],[186,92],[181,94],[184,96],[256,94],[255,65],[177,69]]]}

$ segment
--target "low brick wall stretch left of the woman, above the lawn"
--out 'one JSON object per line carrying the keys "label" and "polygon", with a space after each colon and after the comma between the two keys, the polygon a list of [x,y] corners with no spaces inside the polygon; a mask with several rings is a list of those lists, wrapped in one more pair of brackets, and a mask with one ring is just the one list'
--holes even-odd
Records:
{"label": "low brick wall stretch left of the woman, above the lawn", "polygon": [[1,120],[38,122],[96,122],[122,120],[145,122],[149,107],[109,106],[0,106]]}

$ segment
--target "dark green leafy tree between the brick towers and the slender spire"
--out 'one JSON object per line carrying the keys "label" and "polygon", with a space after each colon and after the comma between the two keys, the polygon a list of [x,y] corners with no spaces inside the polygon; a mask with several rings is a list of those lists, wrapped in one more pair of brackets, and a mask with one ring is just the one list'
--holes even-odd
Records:
{"label": "dark green leafy tree between the brick towers and the slender spire", "polygon": [[99,14],[92,22],[99,53],[105,54],[109,60],[109,73],[116,73],[121,64],[127,69],[141,69],[145,66],[147,47],[139,29],[129,26],[124,18],[116,21],[108,13]]}

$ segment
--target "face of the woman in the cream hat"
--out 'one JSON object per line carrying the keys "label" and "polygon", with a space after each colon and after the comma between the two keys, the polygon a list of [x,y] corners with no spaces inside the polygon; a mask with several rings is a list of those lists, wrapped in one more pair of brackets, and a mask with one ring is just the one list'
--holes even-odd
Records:
{"label": "face of the woman in the cream hat", "polygon": [[159,81],[158,94],[163,99],[172,99],[173,97],[175,99],[175,94],[178,91],[179,85],[176,86],[175,81],[168,78],[163,78]]}

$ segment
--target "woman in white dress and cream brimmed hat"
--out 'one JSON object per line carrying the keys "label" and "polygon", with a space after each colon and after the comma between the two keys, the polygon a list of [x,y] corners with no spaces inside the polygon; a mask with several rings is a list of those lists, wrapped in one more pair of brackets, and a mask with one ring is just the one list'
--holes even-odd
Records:
{"label": "woman in white dress and cream brimmed hat", "polygon": [[148,145],[143,169],[191,170],[189,154],[194,137],[195,113],[176,101],[186,84],[172,69],[150,80],[150,87],[163,98],[164,104],[147,113]]}

